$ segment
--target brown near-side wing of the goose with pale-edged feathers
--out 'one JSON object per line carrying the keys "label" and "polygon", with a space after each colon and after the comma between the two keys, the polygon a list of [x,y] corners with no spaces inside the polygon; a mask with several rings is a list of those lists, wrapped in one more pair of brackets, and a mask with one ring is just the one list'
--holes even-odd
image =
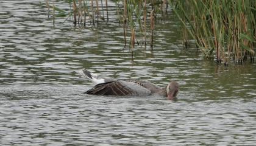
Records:
{"label": "brown near-side wing of the goose with pale-edged feathers", "polygon": [[151,94],[151,91],[137,83],[117,80],[100,83],[85,93],[100,96],[143,96]]}

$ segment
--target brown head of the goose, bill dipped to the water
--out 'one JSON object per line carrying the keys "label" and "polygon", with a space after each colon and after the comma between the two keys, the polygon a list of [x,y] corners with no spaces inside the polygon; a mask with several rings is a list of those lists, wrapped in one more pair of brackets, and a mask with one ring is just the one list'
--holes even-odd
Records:
{"label": "brown head of the goose, bill dipped to the water", "polygon": [[171,81],[166,87],[166,97],[169,100],[176,99],[179,89],[179,84],[177,82]]}

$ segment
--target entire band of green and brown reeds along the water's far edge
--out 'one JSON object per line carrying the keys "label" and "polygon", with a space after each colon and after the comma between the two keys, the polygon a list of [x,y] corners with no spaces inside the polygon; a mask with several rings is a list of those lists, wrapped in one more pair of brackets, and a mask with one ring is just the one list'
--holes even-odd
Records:
{"label": "entire band of green and brown reeds along the water's far edge", "polygon": [[[247,0],[65,0],[69,10],[45,0],[52,22],[65,17],[74,26],[95,26],[109,21],[108,2],[115,3],[119,24],[124,31],[124,46],[129,43],[133,58],[136,44],[154,47],[154,27],[158,19],[175,13],[181,22],[183,47],[194,40],[205,58],[216,58],[225,66],[230,61],[254,63],[256,47],[256,3]],[[51,3],[51,4],[50,4]],[[112,14],[113,15],[113,14]],[[139,38],[139,39],[137,39]],[[148,41],[149,40],[149,41]]]}

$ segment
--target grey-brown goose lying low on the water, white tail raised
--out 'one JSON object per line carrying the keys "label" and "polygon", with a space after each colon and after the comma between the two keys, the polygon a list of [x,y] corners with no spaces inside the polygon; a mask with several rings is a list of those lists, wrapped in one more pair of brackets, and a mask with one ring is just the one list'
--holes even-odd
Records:
{"label": "grey-brown goose lying low on the water, white tail raised", "polygon": [[174,81],[170,82],[165,88],[161,88],[145,80],[118,80],[100,77],[86,69],[80,69],[79,73],[90,79],[95,85],[85,94],[99,96],[148,96],[158,94],[167,97],[169,100],[174,100],[179,92],[179,84]]}

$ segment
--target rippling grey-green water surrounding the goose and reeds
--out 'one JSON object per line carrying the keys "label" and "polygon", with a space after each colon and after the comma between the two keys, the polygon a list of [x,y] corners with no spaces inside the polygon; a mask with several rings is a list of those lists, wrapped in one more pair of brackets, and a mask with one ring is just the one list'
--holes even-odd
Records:
{"label": "rippling grey-green water surrounding the goose and reeds", "polygon": [[[256,143],[256,65],[218,66],[183,49],[177,21],[159,21],[154,50],[136,46],[132,60],[115,15],[87,29],[64,18],[53,26],[40,1],[4,1],[0,20],[0,145]],[[85,95],[92,84],[81,68],[176,80],[179,100]]]}

